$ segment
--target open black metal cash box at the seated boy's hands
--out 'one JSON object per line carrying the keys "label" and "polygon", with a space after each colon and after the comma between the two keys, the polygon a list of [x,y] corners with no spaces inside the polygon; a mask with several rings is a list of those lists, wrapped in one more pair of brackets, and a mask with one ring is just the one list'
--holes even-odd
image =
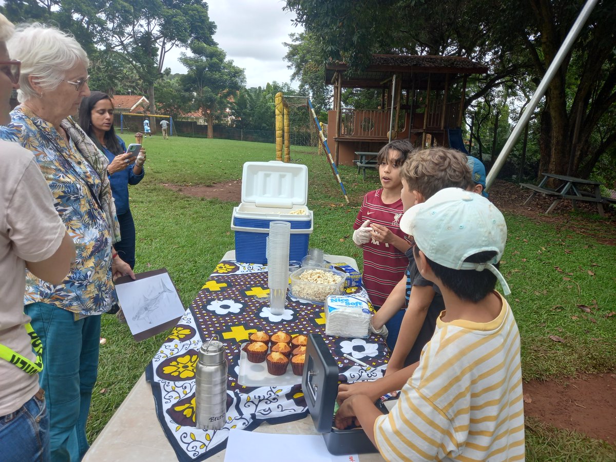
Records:
{"label": "open black metal cash box at the seated boy's hands", "polygon": [[[323,434],[327,449],[333,455],[378,452],[362,428],[338,430],[333,426],[338,374],[338,364],[323,338],[308,334],[302,391],[314,426]],[[376,405],[383,413],[388,412],[381,400]]]}

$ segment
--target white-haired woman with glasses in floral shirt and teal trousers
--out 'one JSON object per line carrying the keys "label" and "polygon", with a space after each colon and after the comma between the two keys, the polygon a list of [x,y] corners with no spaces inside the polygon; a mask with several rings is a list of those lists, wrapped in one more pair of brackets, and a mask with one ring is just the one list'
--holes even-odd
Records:
{"label": "white-haired woman with glasses in floral shirt and teal trousers", "polygon": [[43,342],[39,383],[46,392],[52,461],[78,461],[89,447],[100,315],[116,300],[113,278],[134,274],[113,249],[120,230],[108,160],[71,118],[90,94],[86,52],[72,36],[40,24],[18,27],[7,48],[21,61],[21,105],[0,127],[0,138],[34,153],[76,248],[63,282],[26,274],[24,309]]}

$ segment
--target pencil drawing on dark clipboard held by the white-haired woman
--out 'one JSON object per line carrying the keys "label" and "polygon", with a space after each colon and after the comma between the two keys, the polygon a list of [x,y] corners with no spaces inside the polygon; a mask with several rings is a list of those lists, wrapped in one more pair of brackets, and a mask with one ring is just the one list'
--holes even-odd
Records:
{"label": "pencil drawing on dark clipboard held by the white-haired woman", "polygon": [[132,336],[143,340],[176,325],[184,306],[166,269],[116,280],[118,301]]}

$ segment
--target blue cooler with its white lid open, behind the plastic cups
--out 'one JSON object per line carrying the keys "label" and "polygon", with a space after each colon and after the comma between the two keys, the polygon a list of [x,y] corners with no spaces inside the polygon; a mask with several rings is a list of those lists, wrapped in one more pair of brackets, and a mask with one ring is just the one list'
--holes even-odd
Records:
{"label": "blue cooler with its white lid open, behind the plastic cups", "polygon": [[[235,259],[245,263],[267,263],[265,238],[272,221],[291,224],[289,259],[305,257],[313,229],[307,200],[307,166],[280,161],[246,162],[242,171],[241,203],[233,208],[231,217]],[[292,213],[301,209],[306,213]]]}

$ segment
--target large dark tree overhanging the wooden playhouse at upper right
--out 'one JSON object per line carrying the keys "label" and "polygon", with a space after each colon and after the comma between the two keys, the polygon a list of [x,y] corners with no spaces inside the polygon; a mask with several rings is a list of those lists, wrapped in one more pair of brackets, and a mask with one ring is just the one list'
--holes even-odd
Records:
{"label": "large dark tree overhanging the wooden playhouse at upper right", "polygon": [[[582,0],[286,0],[297,21],[326,55],[363,67],[375,52],[444,54],[490,66],[466,105],[503,83],[530,76],[535,85],[582,8]],[[478,14],[477,12],[480,12]],[[546,93],[541,120],[541,166],[586,177],[616,146],[616,59],[612,2],[595,7],[583,33]]]}

